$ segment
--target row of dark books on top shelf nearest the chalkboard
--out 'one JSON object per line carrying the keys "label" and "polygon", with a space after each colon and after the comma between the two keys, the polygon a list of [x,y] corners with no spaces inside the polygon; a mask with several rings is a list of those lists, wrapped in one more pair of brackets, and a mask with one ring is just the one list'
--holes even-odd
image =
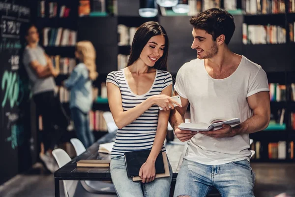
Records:
{"label": "row of dark books on top shelf nearest the chalkboard", "polygon": [[48,6],[48,16],[49,18],[52,17],[59,17],[59,18],[64,18],[64,17],[69,17],[70,10],[71,8],[67,7],[66,5],[63,4],[58,4],[58,2],[48,2],[46,4],[45,0],[38,1],[37,5],[37,16],[38,17],[45,17],[45,7]]}

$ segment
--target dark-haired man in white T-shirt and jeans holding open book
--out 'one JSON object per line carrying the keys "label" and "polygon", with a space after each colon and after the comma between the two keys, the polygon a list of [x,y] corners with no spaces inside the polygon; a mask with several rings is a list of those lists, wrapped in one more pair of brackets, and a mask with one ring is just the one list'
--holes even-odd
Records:
{"label": "dark-haired man in white T-shirt and jeans holding open book", "polygon": [[[192,49],[198,59],[177,73],[175,95],[182,107],[171,112],[170,123],[188,148],[177,176],[175,197],[206,197],[216,188],[223,197],[253,197],[255,174],[249,164],[249,133],[269,123],[269,89],[261,66],[230,51],[234,18],[212,8],[193,16]],[[214,117],[240,118],[236,127],[216,131],[182,131],[190,103],[191,122],[208,123]]]}

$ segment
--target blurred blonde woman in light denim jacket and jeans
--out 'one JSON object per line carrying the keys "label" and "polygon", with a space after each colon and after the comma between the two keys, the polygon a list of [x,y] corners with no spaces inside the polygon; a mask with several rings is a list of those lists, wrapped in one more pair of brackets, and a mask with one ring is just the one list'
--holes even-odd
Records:
{"label": "blurred blonde woman in light denim jacket and jeans", "polygon": [[89,129],[89,111],[92,107],[92,80],[97,77],[95,49],[91,42],[80,41],[76,45],[75,57],[79,64],[75,66],[64,86],[71,90],[70,109],[78,139],[88,148],[94,142]]}

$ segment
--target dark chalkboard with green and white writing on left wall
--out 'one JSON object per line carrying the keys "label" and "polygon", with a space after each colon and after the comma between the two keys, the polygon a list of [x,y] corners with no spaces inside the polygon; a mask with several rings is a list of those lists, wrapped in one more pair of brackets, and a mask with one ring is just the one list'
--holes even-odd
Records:
{"label": "dark chalkboard with green and white writing on left wall", "polygon": [[19,154],[26,133],[20,105],[26,89],[19,74],[20,38],[24,37],[20,29],[29,20],[30,8],[24,0],[0,0],[0,184],[22,169]]}

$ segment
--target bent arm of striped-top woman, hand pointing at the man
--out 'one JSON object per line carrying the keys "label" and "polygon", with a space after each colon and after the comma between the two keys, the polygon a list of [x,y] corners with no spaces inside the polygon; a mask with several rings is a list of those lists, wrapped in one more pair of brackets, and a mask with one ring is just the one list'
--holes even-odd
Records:
{"label": "bent arm of striped-top woman, hand pointing at the man", "polygon": [[[166,88],[167,89],[167,88]],[[165,89],[165,90],[166,90]],[[129,125],[147,111],[152,105],[156,104],[166,111],[166,107],[174,108],[173,103],[178,104],[170,96],[161,94],[154,95],[127,111],[123,111],[121,92],[118,86],[111,82],[107,82],[107,93],[110,110],[112,112],[115,123],[119,129]],[[171,89],[170,89],[171,93]],[[168,108],[169,109],[169,108]],[[168,110],[169,113],[170,110]],[[168,124],[168,123],[167,123]],[[167,126],[166,126],[167,129]]]}

